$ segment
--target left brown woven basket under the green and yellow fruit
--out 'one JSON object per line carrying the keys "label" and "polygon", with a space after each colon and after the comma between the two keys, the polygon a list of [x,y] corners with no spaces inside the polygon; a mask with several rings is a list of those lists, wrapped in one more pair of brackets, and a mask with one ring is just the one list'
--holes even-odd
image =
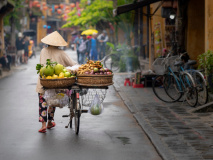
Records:
{"label": "left brown woven basket under the green and yellow fruit", "polygon": [[66,88],[75,83],[76,78],[44,79],[40,78],[41,85],[48,89]]}

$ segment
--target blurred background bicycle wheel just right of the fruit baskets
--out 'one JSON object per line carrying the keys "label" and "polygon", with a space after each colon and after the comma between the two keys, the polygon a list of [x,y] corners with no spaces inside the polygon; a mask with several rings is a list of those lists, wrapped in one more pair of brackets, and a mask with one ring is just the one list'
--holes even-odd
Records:
{"label": "blurred background bicycle wheel just right of the fruit baskets", "polygon": [[104,66],[114,72],[119,70],[119,61],[119,56],[116,54],[109,54],[104,58]]}

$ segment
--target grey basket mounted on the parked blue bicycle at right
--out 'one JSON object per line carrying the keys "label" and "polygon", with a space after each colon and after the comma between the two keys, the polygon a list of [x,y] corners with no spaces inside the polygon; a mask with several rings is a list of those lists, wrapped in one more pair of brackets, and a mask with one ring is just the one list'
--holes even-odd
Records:
{"label": "grey basket mounted on the parked blue bicycle at right", "polygon": [[157,75],[164,75],[167,71],[165,58],[157,58],[152,64],[153,70]]}

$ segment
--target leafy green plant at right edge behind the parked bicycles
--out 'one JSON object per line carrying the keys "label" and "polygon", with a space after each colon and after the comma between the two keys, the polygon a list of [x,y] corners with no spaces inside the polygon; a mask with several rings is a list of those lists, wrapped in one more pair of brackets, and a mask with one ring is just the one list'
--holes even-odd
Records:
{"label": "leafy green plant at right edge behind the parked bicycles", "polygon": [[208,87],[213,93],[213,51],[208,50],[207,52],[198,56],[199,68],[205,70],[207,77]]}

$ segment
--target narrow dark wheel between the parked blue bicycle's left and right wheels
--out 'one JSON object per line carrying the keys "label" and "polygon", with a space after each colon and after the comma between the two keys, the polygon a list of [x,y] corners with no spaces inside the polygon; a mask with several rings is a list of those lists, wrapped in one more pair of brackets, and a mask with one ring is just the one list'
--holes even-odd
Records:
{"label": "narrow dark wheel between the parked blue bicycle's left and right wheels", "polygon": [[164,77],[164,89],[167,95],[174,100],[174,102],[179,101],[183,94],[178,79],[175,79],[173,75],[165,75]]}

